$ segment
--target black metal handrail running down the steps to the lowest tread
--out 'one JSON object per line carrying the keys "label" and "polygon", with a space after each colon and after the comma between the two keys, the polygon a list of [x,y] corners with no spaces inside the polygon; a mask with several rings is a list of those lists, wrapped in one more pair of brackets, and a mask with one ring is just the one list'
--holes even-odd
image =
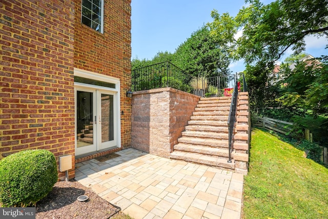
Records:
{"label": "black metal handrail running down the steps to the lowest tread", "polygon": [[238,96],[238,74],[235,74],[235,87],[231,97],[230,111],[228,116],[228,132],[229,132],[229,160],[231,163],[231,152],[233,151],[232,136],[234,132],[235,120],[236,120],[236,110],[237,110],[237,96]]}

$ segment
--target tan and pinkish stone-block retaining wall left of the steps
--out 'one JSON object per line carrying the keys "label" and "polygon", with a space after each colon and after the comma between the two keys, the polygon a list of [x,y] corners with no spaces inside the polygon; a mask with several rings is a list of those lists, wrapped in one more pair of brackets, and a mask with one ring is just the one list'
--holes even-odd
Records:
{"label": "tan and pinkish stone-block retaining wall left of the steps", "polygon": [[199,96],[173,88],[133,93],[131,147],[169,157]]}

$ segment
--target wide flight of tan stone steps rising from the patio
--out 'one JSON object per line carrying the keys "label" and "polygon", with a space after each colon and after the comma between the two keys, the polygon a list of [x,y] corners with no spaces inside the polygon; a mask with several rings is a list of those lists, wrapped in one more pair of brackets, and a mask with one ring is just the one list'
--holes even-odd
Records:
{"label": "wide flight of tan stone steps rising from the patio", "polygon": [[[232,153],[232,162],[228,163],[227,122],[230,104],[231,96],[200,98],[170,158],[235,170],[235,151]],[[241,135],[244,137],[244,133]]]}

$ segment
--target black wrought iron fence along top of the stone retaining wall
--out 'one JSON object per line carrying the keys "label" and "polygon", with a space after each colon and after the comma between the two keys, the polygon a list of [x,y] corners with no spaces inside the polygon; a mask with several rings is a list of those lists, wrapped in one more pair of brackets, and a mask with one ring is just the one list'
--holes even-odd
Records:
{"label": "black wrought iron fence along top of the stone retaining wall", "polygon": [[201,97],[231,96],[234,74],[215,77],[195,77],[186,74],[170,62],[162,62],[132,71],[132,90],[172,87]]}

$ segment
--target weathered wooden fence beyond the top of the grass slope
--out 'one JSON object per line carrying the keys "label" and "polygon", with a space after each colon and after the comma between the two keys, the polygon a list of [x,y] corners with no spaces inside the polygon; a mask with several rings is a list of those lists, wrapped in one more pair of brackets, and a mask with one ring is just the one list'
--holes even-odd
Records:
{"label": "weathered wooden fence beyond the top of the grass slope", "polygon": [[[288,134],[293,129],[293,123],[276,120],[274,118],[269,117],[258,117],[256,115],[252,115],[252,126],[260,127],[267,130],[272,130],[275,132],[279,132],[282,134]],[[304,138],[309,142],[313,142],[313,135],[309,129],[305,129]],[[321,147],[321,146],[320,146]],[[321,161],[328,165],[328,148],[322,148]]]}

